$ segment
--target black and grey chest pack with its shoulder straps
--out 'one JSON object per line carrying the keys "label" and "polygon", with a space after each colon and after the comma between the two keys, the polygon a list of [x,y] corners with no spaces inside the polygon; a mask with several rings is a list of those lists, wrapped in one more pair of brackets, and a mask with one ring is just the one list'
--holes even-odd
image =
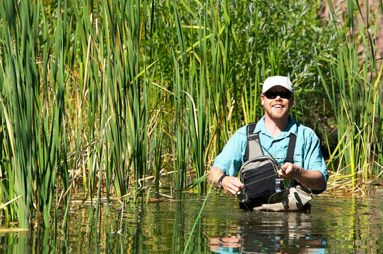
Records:
{"label": "black and grey chest pack with its shoulder straps", "polygon": [[[257,123],[250,123],[247,126],[247,146],[243,157],[244,163],[240,169],[240,181],[244,183],[244,189],[238,198],[241,200],[240,207],[244,209],[281,202],[289,193],[286,191],[287,186],[283,180],[279,179],[277,173],[281,166],[273,157],[265,155],[261,148],[259,133],[254,133],[256,125]],[[296,135],[290,133],[285,162],[294,163],[296,139]],[[297,182],[291,181],[288,187],[291,188],[294,185],[297,185]],[[288,210],[288,205],[283,207],[283,210],[286,208]]]}

